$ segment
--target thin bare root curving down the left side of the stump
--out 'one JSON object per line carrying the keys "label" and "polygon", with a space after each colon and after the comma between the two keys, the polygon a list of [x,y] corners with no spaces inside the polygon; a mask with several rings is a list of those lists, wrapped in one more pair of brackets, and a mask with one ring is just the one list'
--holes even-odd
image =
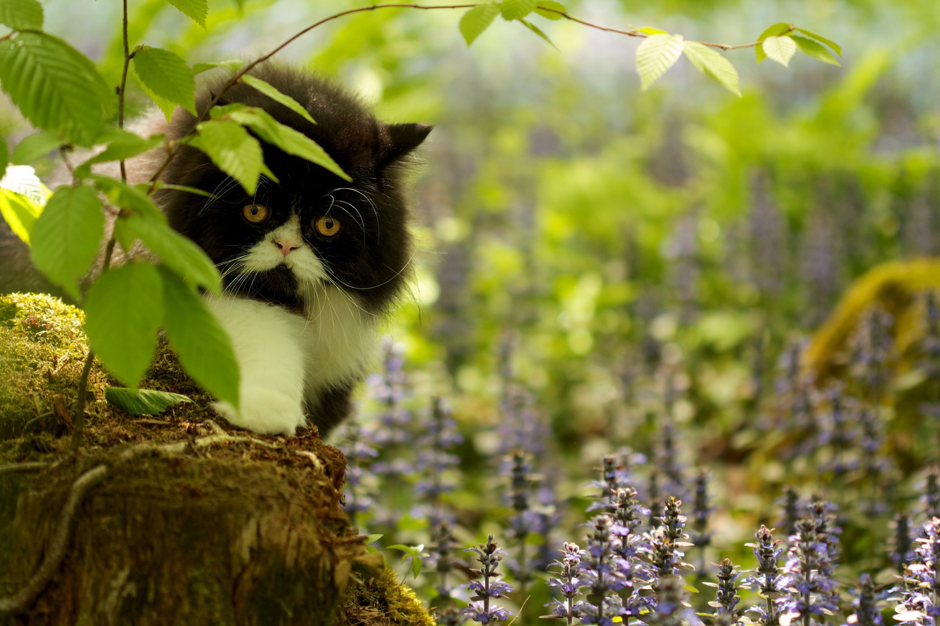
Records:
{"label": "thin bare root curving down the left side of the stump", "polygon": [[76,512],[82,504],[88,491],[99,482],[103,481],[111,469],[108,466],[96,466],[89,469],[78,477],[72,485],[69,497],[65,506],[62,507],[62,513],[59,515],[58,526],[55,528],[55,536],[52,545],[42,559],[39,570],[33,574],[29,582],[19,591],[6,598],[0,598],[0,615],[9,613],[22,613],[39,597],[42,590],[46,588],[53,575],[58,571],[65,557],[66,549],[71,542],[71,534],[75,527]]}

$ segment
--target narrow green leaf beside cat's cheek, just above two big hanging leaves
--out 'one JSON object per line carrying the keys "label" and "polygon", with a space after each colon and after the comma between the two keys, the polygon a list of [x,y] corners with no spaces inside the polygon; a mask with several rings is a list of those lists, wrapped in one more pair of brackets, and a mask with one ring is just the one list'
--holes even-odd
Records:
{"label": "narrow green leaf beside cat's cheek, just above two big hanging leaves", "polygon": [[[205,287],[213,294],[221,293],[219,270],[209,255],[189,237],[170,228],[165,223],[132,214],[118,219],[115,233],[122,246],[140,239],[149,251],[156,253],[169,267],[194,286]],[[125,246],[129,248],[130,246]]]}

